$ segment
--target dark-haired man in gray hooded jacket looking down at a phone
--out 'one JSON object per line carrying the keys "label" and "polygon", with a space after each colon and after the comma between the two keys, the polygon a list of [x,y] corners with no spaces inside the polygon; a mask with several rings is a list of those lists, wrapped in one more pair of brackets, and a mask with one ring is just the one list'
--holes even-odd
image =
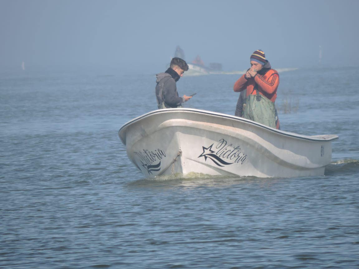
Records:
{"label": "dark-haired man in gray hooded jacket looking down at a phone", "polygon": [[188,70],[185,60],[174,57],[169,68],[164,73],[156,75],[156,99],[158,109],[182,107],[182,103],[190,100],[192,96],[178,96],[176,82]]}

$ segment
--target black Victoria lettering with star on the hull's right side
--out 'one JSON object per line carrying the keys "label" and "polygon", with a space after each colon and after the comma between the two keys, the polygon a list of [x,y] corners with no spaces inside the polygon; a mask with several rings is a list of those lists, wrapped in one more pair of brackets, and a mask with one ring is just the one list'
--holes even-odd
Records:
{"label": "black Victoria lettering with star on the hull's right side", "polygon": [[[241,148],[239,146],[232,147],[233,144],[227,144],[227,141],[222,138],[216,145],[217,151],[212,149],[214,144],[209,147],[202,146],[203,152],[198,157],[204,157],[205,161],[209,158],[218,166],[230,165],[234,163],[244,164],[247,160],[247,155],[240,151]],[[233,159],[235,159],[233,162],[227,162],[228,160]]]}

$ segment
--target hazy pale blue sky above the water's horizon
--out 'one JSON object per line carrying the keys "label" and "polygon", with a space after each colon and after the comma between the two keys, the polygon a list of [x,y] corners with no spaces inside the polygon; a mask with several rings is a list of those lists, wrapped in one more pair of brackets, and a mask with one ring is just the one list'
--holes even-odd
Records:
{"label": "hazy pale blue sky above the water's horizon", "polygon": [[0,0],[0,70],[116,66],[163,71],[177,45],[224,70],[256,49],[274,68],[358,66],[357,0]]}

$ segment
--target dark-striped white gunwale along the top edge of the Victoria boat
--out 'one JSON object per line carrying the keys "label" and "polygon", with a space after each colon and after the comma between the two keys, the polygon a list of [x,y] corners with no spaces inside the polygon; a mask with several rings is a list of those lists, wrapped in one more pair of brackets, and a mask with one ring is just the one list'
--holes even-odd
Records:
{"label": "dark-striped white gunwale along the top edge of the Victoria boat", "polygon": [[[224,118],[228,118],[228,119],[233,119],[233,120],[236,120],[236,121],[242,121],[242,122],[246,122],[246,123],[249,123],[249,124],[253,124],[253,125],[265,128],[268,131],[279,133],[280,135],[299,138],[299,139],[303,139],[303,140],[325,142],[325,141],[333,141],[333,140],[336,140],[336,139],[339,138],[337,135],[319,135],[319,136],[318,135],[316,135],[316,136],[299,135],[299,134],[296,134],[296,133],[286,132],[286,131],[278,130],[278,129],[275,129],[275,128],[271,128],[269,126],[265,126],[264,124],[251,121],[249,119],[245,119],[245,118],[241,118],[241,117],[237,117],[237,116],[233,116],[233,115],[229,115],[229,114],[223,114],[223,113],[212,112],[212,111],[202,110],[202,109],[194,109],[194,108],[168,108],[168,109],[158,109],[158,110],[150,111],[150,112],[148,112],[146,114],[143,114],[143,115],[141,115],[139,117],[136,117],[136,118],[126,122],[125,124],[123,124],[122,127],[120,128],[120,130],[118,131],[118,136],[121,138],[120,133],[127,126],[131,125],[134,122],[139,121],[140,119],[148,117],[150,115],[167,113],[167,112],[181,112],[181,111],[183,111],[183,112],[195,112],[195,113],[199,113],[199,114],[206,114],[206,115],[213,115],[213,116],[220,116],[220,117],[224,117]],[[331,138],[324,138],[324,136],[331,136]],[[123,144],[126,145],[126,143],[123,142],[122,138],[121,138],[121,141],[122,141]]]}

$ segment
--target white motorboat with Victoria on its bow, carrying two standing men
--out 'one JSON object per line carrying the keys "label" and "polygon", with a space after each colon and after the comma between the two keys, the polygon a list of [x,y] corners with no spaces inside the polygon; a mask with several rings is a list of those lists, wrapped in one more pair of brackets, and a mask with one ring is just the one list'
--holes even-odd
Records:
{"label": "white motorboat with Victoria on its bow, carrying two standing men", "polygon": [[118,131],[146,178],[323,175],[336,135],[306,136],[233,115],[192,108],[148,112]]}

